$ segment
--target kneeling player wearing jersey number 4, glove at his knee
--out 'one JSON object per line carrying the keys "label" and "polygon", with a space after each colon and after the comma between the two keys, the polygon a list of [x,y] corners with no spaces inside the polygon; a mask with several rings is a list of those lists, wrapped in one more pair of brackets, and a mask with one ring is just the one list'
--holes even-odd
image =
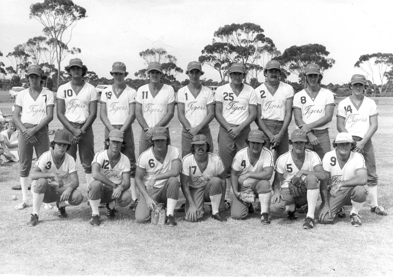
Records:
{"label": "kneeling player wearing jersey number 4, glove at his knee", "polygon": [[254,212],[252,203],[255,201],[255,193],[261,203],[261,223],[270,224],[268,210],[272,190],[269,180],[273,174],[274,162],[272,152],[263,147],[266,140],[262,131],[250,131],[246,139],[248,147],[237,152],[233,159],[231,185],[235,197],[231,216],[234,219],[244,219],[248,213]]}

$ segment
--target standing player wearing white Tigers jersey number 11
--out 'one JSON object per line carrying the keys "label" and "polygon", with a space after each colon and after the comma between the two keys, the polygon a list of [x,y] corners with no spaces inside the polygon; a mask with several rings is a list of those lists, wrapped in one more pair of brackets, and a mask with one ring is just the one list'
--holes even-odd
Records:
{"label": "standing player wearing white Tigers jersey number 11", "polygon": [[135,116],[142,127],[139,155],[150,147],[149,140],[151,140],[154,127],[163,126],[168,129],[176,103],[173,87],[161,81],[163,74],[161,64],[155,61],[149,63],[147,74],[150,83],[141,86],[136,92]]}

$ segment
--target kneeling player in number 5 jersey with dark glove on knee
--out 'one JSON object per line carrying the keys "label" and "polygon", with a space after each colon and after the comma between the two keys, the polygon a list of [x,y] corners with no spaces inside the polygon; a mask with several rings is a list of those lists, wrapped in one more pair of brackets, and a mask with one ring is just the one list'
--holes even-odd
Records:
{"label": "kneeling player in number 5 jersey with dark glove on knee", "polygon": [[326,174],[318,154],[305,149],[307,144],[305,131],[301,129],[293,131],[289,144],[292,145],[292,150],[278,157],[276,161],[274,194],[270,208],[274,214],[288,212],[288,219],[296,220],[298,218],[296,205],[308,204],[303,228],[312,229],[319,183],[326,179]]}

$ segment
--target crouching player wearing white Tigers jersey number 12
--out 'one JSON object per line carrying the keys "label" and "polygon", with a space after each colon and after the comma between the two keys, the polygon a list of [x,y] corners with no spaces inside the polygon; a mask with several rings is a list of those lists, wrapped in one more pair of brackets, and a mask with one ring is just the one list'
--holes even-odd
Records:
{"label": "crouching player wearing white Tigers jersey number 12", "polygon": [[90,224],[101,223],[99,204],[107,204],[107,218],[115,219],[116,206],[130,205],[132,197],[130,188],[130,160],[120,153],[123,146],[123,132],[113,129],[105,140],[105,150],[95,154],[92,162],[93,180],[89,185],[88,194],[92,218]]}

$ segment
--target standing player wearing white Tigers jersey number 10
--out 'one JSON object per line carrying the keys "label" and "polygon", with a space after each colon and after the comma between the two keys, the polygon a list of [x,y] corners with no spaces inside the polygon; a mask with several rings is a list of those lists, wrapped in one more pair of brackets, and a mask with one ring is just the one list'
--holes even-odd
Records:
{"label": "standing player wearing white Tigers jersey number 10", "polygon": [[71,147],[67,151],[75,160],[79,158],[84,169],[87,185],[92,180],[94,158],[94,134],[92,124],[97,117],[97,92],[83,80],[87,67],[81,59],[71,59],[66,71],[71,81],[57,89],[57,118],[66,131],[72,134]]}

